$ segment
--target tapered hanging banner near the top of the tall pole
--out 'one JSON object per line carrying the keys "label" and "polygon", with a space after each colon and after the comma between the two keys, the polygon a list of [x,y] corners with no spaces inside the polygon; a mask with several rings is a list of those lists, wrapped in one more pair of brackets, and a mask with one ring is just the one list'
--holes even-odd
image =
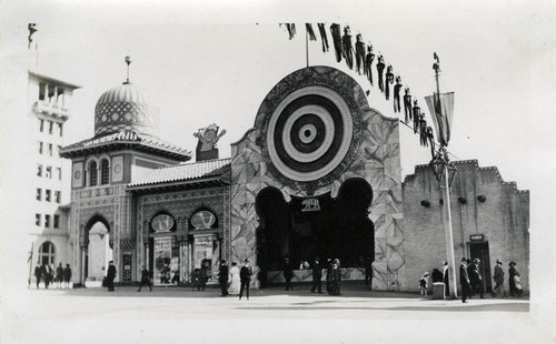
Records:
{"label": "tapered hanging banner near the top of the tall pole", "polygon": [[436,135],[440,144],[448,145],[450,140],[451,119],[454,115],[454,92],[434,93],[425,97],[435,124]]}

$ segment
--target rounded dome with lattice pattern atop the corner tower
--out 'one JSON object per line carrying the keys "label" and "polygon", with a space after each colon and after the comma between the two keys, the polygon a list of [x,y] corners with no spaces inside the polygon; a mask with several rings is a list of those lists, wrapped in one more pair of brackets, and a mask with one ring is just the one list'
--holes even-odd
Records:
{"label": "rounded dome with lattice pattern atop the corner tower", "polygon": [[95,136],[122,130],[152,136],[159,130],[157,108],[130,82],[106,91],[95,107]]}

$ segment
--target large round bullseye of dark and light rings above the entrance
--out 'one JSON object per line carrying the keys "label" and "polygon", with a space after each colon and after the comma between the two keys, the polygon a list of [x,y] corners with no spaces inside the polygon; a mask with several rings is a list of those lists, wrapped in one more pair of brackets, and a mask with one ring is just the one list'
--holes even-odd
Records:
{"label": "large round bullseye of dark and light rings above the entrance", "polygon": [[354,139],[354,120],[344,98],[330,88],[309,85],[284,98],[266,129],[274,168],[297,182],[311,182],[337,169]]}

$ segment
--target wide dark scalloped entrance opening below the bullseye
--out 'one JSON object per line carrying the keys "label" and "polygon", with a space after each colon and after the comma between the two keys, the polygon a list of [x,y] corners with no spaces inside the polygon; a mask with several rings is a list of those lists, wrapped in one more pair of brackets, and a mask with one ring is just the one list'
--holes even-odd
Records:
{"label": "wide dark scalloped entrance opening below the bullseye", "polygon": [[[342,267],[363,266],[375,256],[374,224],[368,219],[373,190],[363,179],[346,181],[337,198],[296,198],[286,202],[275,188],[256,200],[258,264],[261,272],[278,271],[286,257],[294,263],[339,259]],[[261,282],[265,282],[262,274]]]}

